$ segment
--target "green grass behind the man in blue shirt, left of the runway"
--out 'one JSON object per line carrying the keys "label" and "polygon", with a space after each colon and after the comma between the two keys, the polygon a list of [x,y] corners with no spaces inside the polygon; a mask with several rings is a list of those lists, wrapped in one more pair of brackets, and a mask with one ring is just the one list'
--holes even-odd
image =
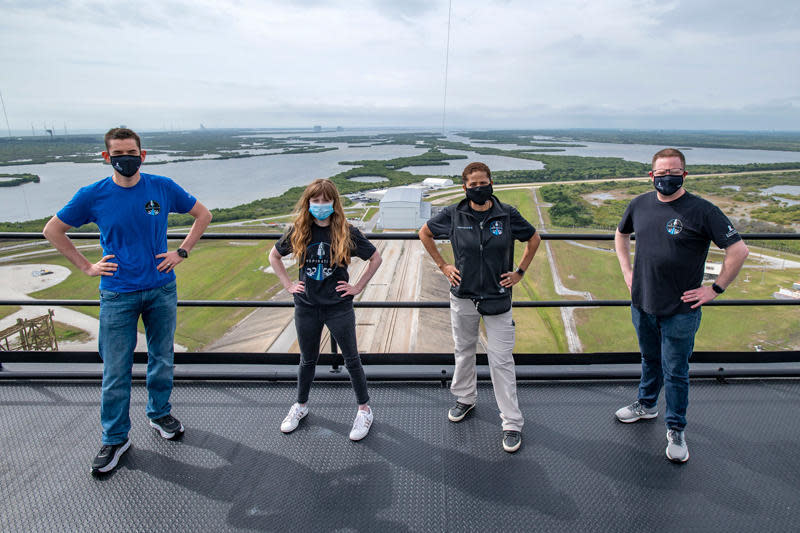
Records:
{"label": "green grass behind the man in blue shirt, left of the runway", "polygon": [[[265,274],[267,252],[273,241],[259,241],[255,246],[232,246],[227,241],[202,241],[191,257],[177,269],[178,298],[181,300],[268,300],[280,284],[274,274]],[[87,251],[90,261],[99,259],[100,251]],[[39,259],[41,260],[41,259]],[[96,299],[99,280],[77,272],[69,261],[58,254],[46,262],[64,265],[72,274],[62,283],[32,293],[35,298]],[[98,317],[99,307],[79,309]],[[229,328],[249,314],[252,308],[178,308],[175,341],[189,350],[199,350],[221,337]],[[139,324],[140,331],[144,331]]]}

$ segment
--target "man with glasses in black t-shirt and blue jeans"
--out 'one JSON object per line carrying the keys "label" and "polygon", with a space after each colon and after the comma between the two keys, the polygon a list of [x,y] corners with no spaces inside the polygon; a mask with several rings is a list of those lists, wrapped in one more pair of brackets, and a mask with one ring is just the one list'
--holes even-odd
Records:
{"label": "man with glasses in black t-shirt and blue jeans", "polygon": [[[722,294],[736,278],[748,249],[717,206],[683,188],[686,159],[666,148],[653,156],[655,191],[634,198],[622,215],[615,247],[631,292],[631,315],[642,376],[637,401],[616,412],[621,422],[655,418],[662,384],[667,403],[667,458],[689,459],[684,438],[689,404],[689,357],[700,326],[700,307]],[[636,232],[631,268],[630,239]],[[722,271],[702,285],[711,241],[725,250]]]}

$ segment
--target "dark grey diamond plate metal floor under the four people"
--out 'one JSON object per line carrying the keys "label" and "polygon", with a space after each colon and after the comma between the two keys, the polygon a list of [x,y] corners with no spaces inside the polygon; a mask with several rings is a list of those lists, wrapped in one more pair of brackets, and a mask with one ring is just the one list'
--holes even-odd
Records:
{"label": "dark grey diamond plate metal floor under the four people", "polygon": [[99,384],[0,382],[0,531],[796,531],[800,381],[692,384],[692,459],[664,457],[663,415],[623,425],[625,383],[519,388],[522,449],[500,447],[491,387],[459,424],[438,384],[371,383],[352,443],[348,384],[318,383],[283,435],[289,383],[180,382],[179,442],[135,385],[133,446],[96,479]]}

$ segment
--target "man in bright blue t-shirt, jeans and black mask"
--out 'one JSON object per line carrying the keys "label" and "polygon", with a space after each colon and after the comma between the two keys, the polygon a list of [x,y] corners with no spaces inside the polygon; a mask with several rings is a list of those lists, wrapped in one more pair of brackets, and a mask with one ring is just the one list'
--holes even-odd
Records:
{"label": "man in bright blue t-shirt, jeans and black mask", "polygon": [[[44,228],[44,236],[76,267],[100,276],[103,440],[92,473],[113,470],[131,445],[131,370],[139,316],[147,335],[147,416],[165,439],[183,433],[170,411],[178,295],[174,268],[211,222],[211,213],[169,178],[139,172],[146,152],[127,128],[105,135],[103,158],[114,174],[81,188]],[[194,223],[177,250],[167,249],[169,213],[189,213]],[[103,257],[90,263],[66,232],[94,222]]]}

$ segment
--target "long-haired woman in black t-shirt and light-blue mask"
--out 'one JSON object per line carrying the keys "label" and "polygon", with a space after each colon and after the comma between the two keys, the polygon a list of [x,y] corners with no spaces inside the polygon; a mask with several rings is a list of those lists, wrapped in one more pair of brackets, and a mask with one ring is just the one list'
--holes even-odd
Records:
{"label": "long-haired woman in black t-shirt and light-blue mask", "polygon": [[[281,423],[291,433],[308,414],[308,394],[319,358],[322,326],[327,326],[342,351],[358,400],[351,440],[367,436],[372,425],[367,379],[356,344],[353,296],[359,294],[381,264],[381,255],[364,235],[347,223],[336,186],[327,179],[314,180],[295,207],[294,224],[275,243],[269,262],[284,288],[294,295],[294,324],[300,345],[297,402]],[[282,256],[294,254],[300,265],[299,280],[292,282]],[[369,260],[366,272],[350,284],[347,266],[355,255]]]}

